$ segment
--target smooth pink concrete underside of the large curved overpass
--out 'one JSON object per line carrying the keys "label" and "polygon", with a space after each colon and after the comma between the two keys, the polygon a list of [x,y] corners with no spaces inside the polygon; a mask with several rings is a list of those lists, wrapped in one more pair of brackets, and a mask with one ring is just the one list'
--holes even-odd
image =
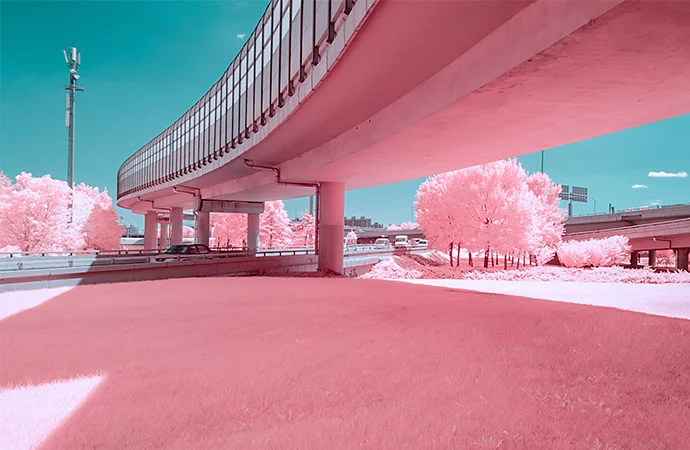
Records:
{"label": "smooth pink concrete underside of the large curved overpass", "polygon": [[[688,113],[689,83],[690,2],[382,1],[284,123],[184,185],[209,199],[312,194],[245,158],[346,189],[423,177]],[[146,195],[192,206],[171,188]]]}

